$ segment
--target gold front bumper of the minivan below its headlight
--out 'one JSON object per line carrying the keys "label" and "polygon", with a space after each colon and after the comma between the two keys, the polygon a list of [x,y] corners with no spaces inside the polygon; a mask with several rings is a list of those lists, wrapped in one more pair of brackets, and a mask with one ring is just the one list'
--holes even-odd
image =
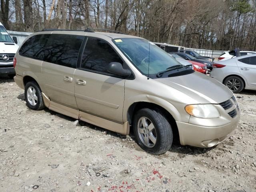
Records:
{"label": "gold front bumper of the minivan below its headlight", "polygon": [[180,144],[195,147],[208,148],[225,141],[236,129],[240,119],[240,112],[230,121],[230,123],[216,126],[198,126],[194,124],[178,122],[178,131],[180,135]]}

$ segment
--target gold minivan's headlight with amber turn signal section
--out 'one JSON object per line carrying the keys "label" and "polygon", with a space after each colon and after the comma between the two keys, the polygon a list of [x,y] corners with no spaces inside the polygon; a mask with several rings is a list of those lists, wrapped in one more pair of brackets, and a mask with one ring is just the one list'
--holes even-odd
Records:
{"label": "gold minivan's headlight with amber turn signal section", "polygon": [[218,118],[220,112],[213,104],[187,105],[185,110],[188,114],[198,118]]}

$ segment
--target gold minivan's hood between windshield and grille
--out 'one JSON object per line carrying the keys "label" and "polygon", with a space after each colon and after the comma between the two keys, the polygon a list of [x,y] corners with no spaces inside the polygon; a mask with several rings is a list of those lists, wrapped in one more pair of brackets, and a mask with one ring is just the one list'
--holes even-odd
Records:
{"label": "gold minivan's hood between windshield and grille", "polygon": [[[190,96],[192,100],[198,102],[194,104],[219,104],[233,95],[226,86],[199,72],[155,80]],[[190,102],[192,101],[184,101],[184,103],[192,104]]]}

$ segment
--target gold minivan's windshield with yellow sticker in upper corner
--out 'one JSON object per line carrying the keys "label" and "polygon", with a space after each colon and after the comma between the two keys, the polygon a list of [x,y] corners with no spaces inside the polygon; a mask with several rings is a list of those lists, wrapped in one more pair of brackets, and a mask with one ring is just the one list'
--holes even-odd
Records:
{"label": "gold minivan's windshield with yellow sticker in upper corner", "polygon": [[[124,55],[144,75],[177,70],[181,64],[154,43],[139,38],[121,38],[112,40]],[[183,68],[182,66],[180,66]],[[186,70],[186,68],[184,68]],[[167,72],[166,71],[166,72]],[[155,75],[156,76],[156,75]]]}

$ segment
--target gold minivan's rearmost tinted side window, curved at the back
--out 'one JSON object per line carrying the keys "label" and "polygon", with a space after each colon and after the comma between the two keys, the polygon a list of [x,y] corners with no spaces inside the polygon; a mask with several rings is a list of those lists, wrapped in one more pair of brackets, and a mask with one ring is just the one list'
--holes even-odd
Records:
{"label": "gold minivan's rearmost tinted side window, curved at the back", "polygon": [[44,48],[50,34],[34,35],[22,45],[19,55],[38,60],[44,59]]}

